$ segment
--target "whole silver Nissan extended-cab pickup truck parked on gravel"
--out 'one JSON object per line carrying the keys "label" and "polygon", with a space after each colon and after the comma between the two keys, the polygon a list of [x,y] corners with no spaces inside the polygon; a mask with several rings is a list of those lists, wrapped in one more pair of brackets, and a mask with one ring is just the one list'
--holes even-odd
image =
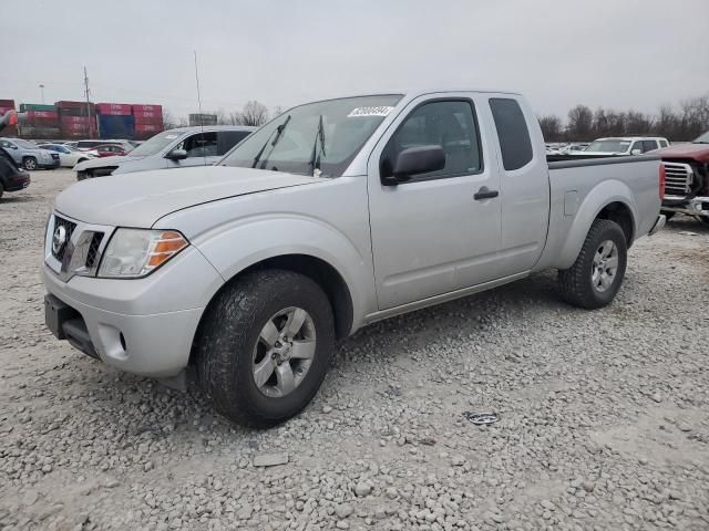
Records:
{"label": "whole silver Nissan extended-cab pickup truck parked on gravel", "polygon": [[45,321],[120,369],[184,382],[267,426],[317,393],[335,341],[557,269],[604,306],[659,230],[657,157],[547,163],[517,94],[301,105],[216,166],[79,183],[45,238]]}

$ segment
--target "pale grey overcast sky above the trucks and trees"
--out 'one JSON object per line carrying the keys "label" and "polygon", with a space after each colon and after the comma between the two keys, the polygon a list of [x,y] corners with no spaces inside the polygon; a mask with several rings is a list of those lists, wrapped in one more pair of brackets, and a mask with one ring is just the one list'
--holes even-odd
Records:
{"label": "pale grey overcast sky above the trucks and trees", "polygon": [[517,91],[538,114],[709,93],[709,0],[1,0],[0,98],[196,111],[418,87]]}

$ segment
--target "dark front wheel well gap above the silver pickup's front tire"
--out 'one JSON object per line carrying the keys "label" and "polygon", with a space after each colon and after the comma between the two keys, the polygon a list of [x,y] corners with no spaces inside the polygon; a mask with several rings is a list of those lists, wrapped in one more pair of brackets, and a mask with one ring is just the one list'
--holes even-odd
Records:
{"label": "dark front wheel well gap above the silver pickup's front tire", "polygon": [[[352,327],[353,310],[352,296],[350,295],[350,290],[347,287],[345,279],[342,279],[340,273],[325,260],[320,260],[319,258],[315,258],[308,254],[282,254],[279,257],[268,258],[238,272],[237,274],[232,277],[217,293],[214,294],[212,301],[209,301],[209,304],[207,304],[207,308],[203,313],[203,319],[204,315],[208,313],[212,302],[216,300],[222,290],[224,290],[230,283],[236,282],[244,274],[263,269],[284,269],[287,271],[294,271],[296,273],[304,274],[317,282],[318,285],[322,288],[322,291],[325,291],[325,293],[327,294],[328,300],[330,301],[330,305],[332,306],[336,336],[340,339],[349,335]],[[193,353],[195,350],[196,341],[198,340],[201,333],[202,321],[197,325],[197,332],[195,333],[195,339],[193,341]],[[192,361],[193,355],[191,353],[189,363],[192,363]]]}

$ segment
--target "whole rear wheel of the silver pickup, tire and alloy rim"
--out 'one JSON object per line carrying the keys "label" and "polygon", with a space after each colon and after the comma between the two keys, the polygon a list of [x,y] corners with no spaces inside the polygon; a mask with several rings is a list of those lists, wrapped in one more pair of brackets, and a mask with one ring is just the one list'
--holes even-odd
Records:
{"label": "whole rear wheel of the silver pickup, tire and alloy rim", "polygon": [[[613,246],[606,242],[615,246],[615,253],[603,258],[604,253],[613,251]],[[609,274],[614,256],[615,272]],[[558,272],[562,298],[569,304],[588,310],[609,304],[620,289],[627,260],[627,242],[620,226],[608,219],[596,219],[574,264]]]}

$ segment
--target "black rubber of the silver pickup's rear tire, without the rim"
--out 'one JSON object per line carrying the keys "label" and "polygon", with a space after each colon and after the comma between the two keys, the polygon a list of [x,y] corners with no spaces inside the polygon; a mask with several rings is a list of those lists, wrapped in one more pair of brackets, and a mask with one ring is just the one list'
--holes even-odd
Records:
{"label": "black rubber of the silver pickup's rear tire, without the rim", "polygon": [[[592,281],[594,256],[602,243],[607,240],[610,240],[616,246],[618,266],[612,284],[606,291],[600,292]],[[627,242],[620,226],[609,219],[595,220],[574,264],[558,272],[558,283],[563,299],[569,304],[589,310],[609,304],[620,289],[627,260]]]}

